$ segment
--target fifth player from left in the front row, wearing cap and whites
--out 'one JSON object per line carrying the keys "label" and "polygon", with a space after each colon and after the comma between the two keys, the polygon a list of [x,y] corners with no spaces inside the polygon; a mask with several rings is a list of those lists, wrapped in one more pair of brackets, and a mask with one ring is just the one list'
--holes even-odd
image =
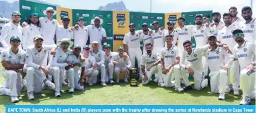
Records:
{"label": "fifth player from left in the front row, wearing cap and whites", "polygon": [[84,78],[88,80],[89,86],[92,86],[97,83],[97,81],[93,81],[93,78],[97,78],[99,71],[97,70],[97,66],[94,66],[96,64],[96,60],[94,56],[90,55],[90,47],[86,45],[83,49],[83,56],[85,57],[84,62],[86,64],[86,73],[84,73]]}

